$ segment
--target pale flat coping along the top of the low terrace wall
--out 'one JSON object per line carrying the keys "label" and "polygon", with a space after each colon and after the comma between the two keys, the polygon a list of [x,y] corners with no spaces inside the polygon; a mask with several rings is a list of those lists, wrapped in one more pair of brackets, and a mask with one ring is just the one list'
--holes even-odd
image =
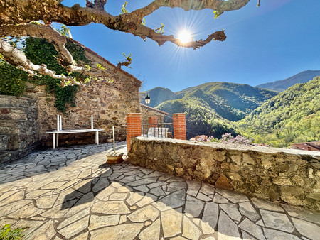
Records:
{"label": "pale flat coping along the top of the low terrace wall", "polygon": [[228,150],[236,150],[236,151],[257,151],[260,153],[289,153],[294,155],[302,155],[302,156],[312,156],[313,158],[317,158],[320,161],[320,152],[317,151],[304,151],[304,150],[298,150],[298,149],[288,149],[288,148],[272,148],[267,146],[245,146],[245,145],[239,145],[239,144],[225,144],[225,143],[199,143],[195,141],[189,141],[189,140],[178,140],[178,139],[172,139],[172,138],[153,138],[153,137],[137,137],[139,140],[144,141],[158,141],[159,143],[168,142],[168,143],[184,143],[186,145],[191,146],[205,146],[210,148],[222,148],[222,149],[228,149]]}

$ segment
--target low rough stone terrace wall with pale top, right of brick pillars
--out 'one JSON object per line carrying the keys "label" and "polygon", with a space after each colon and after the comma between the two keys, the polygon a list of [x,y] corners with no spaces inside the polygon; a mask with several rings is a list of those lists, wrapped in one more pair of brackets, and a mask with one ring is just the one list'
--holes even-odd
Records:
{"label": "low rough stone terrace wall with pale top, right of brick pillars", "polygon": [[265,200],[320,211],[320,153],[132,138],[129,162]]}

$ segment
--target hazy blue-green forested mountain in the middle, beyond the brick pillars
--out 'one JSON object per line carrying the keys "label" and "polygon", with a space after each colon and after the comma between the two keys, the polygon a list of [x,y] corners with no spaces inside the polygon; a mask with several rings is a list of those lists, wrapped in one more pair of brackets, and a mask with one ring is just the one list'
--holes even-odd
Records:
{"label": "hazy blue-green forested mountain in the middle, beyond the brick pillars", "polygon": [[201,134],[220,138],[225,132],[235,134],[231,121],[243,119],[276,94],[246,84],[208,82],[176,92],[179,99],[156,108],[169,114],[186,112],[187,138]]}

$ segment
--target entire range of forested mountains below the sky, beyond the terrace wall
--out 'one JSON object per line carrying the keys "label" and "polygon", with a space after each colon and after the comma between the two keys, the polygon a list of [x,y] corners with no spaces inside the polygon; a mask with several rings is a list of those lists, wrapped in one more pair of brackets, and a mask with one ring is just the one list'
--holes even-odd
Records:
{"label": "entire range of forested mountains below the sky, beyond the terrace wall", "polygon": [[[298,75],[289,77],[286,80],[274,82],[274,86],[284,87],[294,84],[297,79],[302,81],[302,76],[314,75],[316,72],[319,72],[320,75],[320,71],[300,72]],[[319,80],[313,81],[319,82]],[[302,87],[304,84],[297,84],[280,94],[270,89],[230,82],[208,82],[196,87],[188,87],[180,92],[172,92],[170,89],[163,87],[155,87],[146,92],[151,97],[151,107],[169,112],[169,114],[187,113],[187,138],[202,134],[220,138],[226,132],[233,135],[242,133],[244,136],[257,138],[259,143],[267,142],[272,146],[288,146],[289,143],[292,143],[292,137],[288,137],[289,129],[294,128],[294,126],[290,125],[289,128],[287,121],[292,123],[292,114],[306,119],[312,113],[319,114],[319,109],[314,108],[314,106],[319,105],[320,100],[317,105],[314,102],[311,104],[313,106],[312,111],[298,111],[296,109],[308,109],[307,104],[310,101],[312,102],[312,99],[319,99],[318,96],[314,96],[314,94],[320,95],[319,84],[310,84],[308,82],[306,87]],[[302,86],[297,87],[299,85]],[[279,88],[275,89],[279,90]],[[312,90],[309,92],[310,94],[305,92],[310,89],[316,90]],[[294,91],[297,91],[297,94]],[[302,96],[302,99],[300,96]],[[295,102],[294,97],[300,99],[300,102]],[[303,97],[306,101],[303,100]],[[284,102],[282,99],[284,99]],[[304,102],[304,104],[300,104],[301,102]],[[262,111],[262,107],[265,107],[266,104],[267,106],[270,105],[272,111],[270,109],[270,111]],[[283,106],[287,106],[285,111],[280,110]],[[277,120],[273,122],[274,118],[277,118]],[[303,121],[300,125],[304,127],[306,123],[312,125],[314,124],[314,119],[316,119],[315,116],[310,116],[310,121]],[[317,119],[317,121],[320,121],[320,119]],[[287,135],[282,133],[282,127],[288,132]],[[312,128],[314,128],[313,125]],[[278,132],[274,133],[272,129],[277,129]],[[306,131],[302,131],[302,133],[308,137],[294,138],[294,140],[309,141],[317,138],[312,134],[306,133]],[[317,131],[314,130],[314,132]],[[302,136],[303,134],[296,133],[297,136]]]}

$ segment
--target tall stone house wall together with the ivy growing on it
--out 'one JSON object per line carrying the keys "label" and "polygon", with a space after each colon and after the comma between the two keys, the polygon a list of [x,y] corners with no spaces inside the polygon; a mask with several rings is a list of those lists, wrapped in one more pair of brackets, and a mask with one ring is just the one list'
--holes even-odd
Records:
{"label": "tall stone house wall together with the ivy growing on it", "polygon": [[[39,140],[44,145],[52,145],[52,136],[46,131],[56,129],[57,114],[63,116],[63,129],[90,129],[90,116],[94,116],[95,128],[100,132],[100,142],[109,138],[112,125],[116,138],[125,140],[126,116],[129,112],[139,112],[139,87],[141,82],[124,70],[97,55],[89,48],[69,39],[66,47],[74,60],[84,66],[97,64],[107,71],[114,72],[112,83],[92,81],[87,87],[60,87],[59,80],[48,76],[29,77],[16,67],[1,61],[0,56],[0,94],[31,97],[38,103]],[[68,75],[58,64],[58,53],[53,45],[40,38],[27,38],[24,52],[34,64],[46,63],[57,74]],[[78,73],[73,77],[84,79]],[[59,143],[94,143],[94,133],[60,134]]]}

